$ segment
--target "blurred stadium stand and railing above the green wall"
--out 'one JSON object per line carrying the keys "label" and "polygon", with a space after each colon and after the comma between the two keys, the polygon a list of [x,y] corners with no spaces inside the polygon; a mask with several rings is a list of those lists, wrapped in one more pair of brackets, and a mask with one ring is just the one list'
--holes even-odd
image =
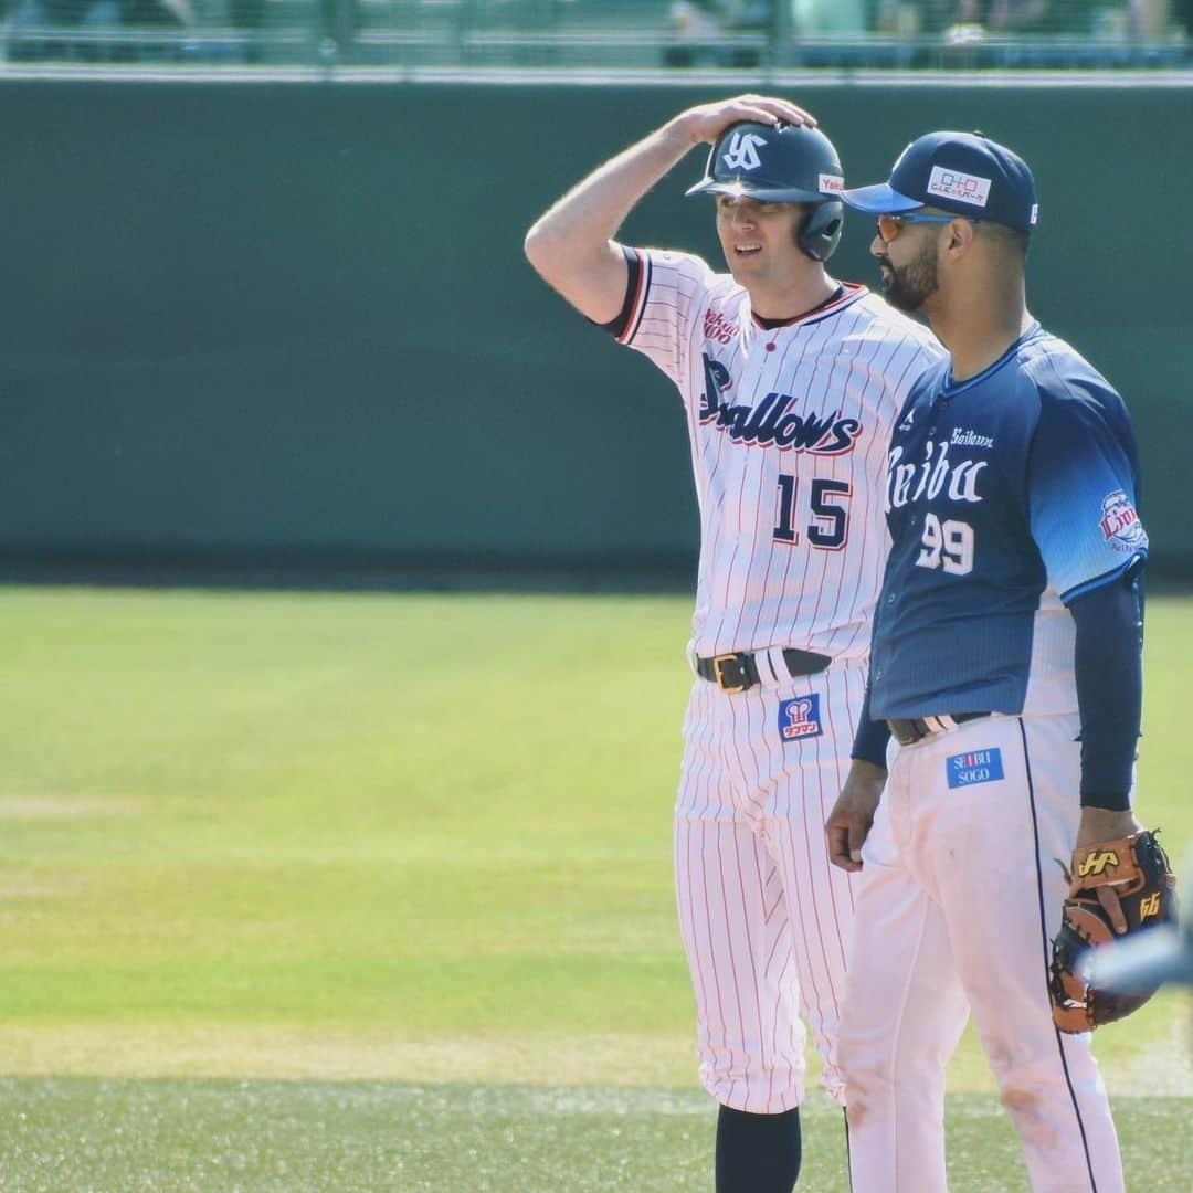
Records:
{"label": "blurred stadium stand and railing above the green wall", "polygon": [[10,0],[0,49],[13,64],[1186,69],[1188,8],[1176,0]]}

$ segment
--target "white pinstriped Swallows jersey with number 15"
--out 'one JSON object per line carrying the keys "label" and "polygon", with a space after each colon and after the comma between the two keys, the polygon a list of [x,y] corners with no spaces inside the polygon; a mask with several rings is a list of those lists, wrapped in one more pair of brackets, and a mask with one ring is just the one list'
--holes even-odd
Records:
{"label": "white pinstriped Swallows jersey with number 15", "polygon": [[679,387],[700,507],[699,655],[799,647],[863,659],[882,585],[886,450],[944,356],[865,286],[767,329],[729,274],[630,249],[618,340]]}

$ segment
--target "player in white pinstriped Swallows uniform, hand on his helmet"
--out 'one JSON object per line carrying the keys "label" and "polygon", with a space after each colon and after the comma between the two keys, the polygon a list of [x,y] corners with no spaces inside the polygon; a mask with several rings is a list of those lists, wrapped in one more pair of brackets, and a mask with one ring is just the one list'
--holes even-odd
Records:
{"label": "player in white pinstriped Swallows uniform, hand on his helmet", "polygon": [[[694,674],[675,815],[700,1077],[721,1102],[721,1193],[790,1193],[804,1026],[834,1045],[853,915],[824,816],[848,768],[882,574],[894,418],[942,353],[832,278],[841,166],[802,109],[746,95],[681,112],[530,230],[532,265],[679,388],[700,507]],[[631,208],[700,143],[729,267],[628,248]]]}

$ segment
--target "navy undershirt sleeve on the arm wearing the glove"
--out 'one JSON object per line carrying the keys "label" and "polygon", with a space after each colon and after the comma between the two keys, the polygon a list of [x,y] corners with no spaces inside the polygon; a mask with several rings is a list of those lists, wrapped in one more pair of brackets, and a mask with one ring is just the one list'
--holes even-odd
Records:
{"label": "navy undershirt sleeve on the arm wearing the glove", "polygon": [[1123,811],[1143,709],[1143,581],[1112,580],[1069,605],[1077,623],[1081,805]]}

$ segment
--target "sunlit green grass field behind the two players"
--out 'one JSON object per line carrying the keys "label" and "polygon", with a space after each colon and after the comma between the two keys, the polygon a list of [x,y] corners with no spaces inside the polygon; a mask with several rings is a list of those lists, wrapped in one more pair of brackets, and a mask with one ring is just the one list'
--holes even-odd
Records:
{"label": "sunlit green grass field behind the two players", "polygon": [[[1138,804],[1185,859],[1193,601],[1148,616]],[[0,1189],[709,1188],[687,618],[0,589]],[[1139,1193],[1193,1188],[1188,1018],[1099,1033]],[[1026,1188],[972,1038],[950,1078],[953,1187]]]}

